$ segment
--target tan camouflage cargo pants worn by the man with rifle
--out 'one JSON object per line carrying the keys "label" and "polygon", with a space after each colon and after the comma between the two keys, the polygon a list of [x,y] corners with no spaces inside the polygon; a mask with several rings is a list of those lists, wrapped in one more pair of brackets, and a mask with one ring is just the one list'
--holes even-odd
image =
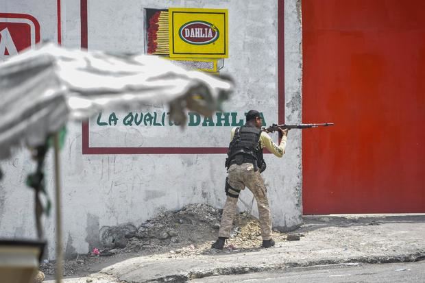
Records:
{"label": "tan camouflage cargo pants worn by the man with rifle", "polygon": [[[254,171],[254,166],[250,163],[243,163],[241,165],[232,164],[228,169],[228,177],[228,182],[233,188],[243,190],[247,186],[252,191],[257,201],[261,236],[263,240],[270,240],[271,215],[269,201],[267,200],[267,189],[260,171]],[[230,230],[232,230],[232,223],[236,214],[237,201],[238,199],[235,197],[227,197],[221,216],[219,237],[230,237]]]}

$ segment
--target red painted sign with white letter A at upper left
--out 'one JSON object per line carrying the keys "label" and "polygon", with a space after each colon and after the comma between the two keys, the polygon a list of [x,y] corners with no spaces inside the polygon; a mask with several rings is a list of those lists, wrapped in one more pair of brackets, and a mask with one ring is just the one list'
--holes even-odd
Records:
{"label": "red painted sign with white letter A at upper left", "polygon": [[0,60],[40,41],[40,25],[29,14],[0,13]]}

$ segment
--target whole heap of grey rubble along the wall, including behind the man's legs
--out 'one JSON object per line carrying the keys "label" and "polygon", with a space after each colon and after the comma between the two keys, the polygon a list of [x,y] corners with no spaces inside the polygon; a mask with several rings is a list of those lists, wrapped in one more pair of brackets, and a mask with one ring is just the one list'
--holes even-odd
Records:
{"label": "whole heap of grey rubble along the wall, including behind the man's legs", "polygon": [[[141,223],[102,227],[99,232],[102,247],[95,247],[86,255],[67,260],[65,275],[85,273],[96,258],[103,256],[146,256],[169,253],[169,257],[193,256],[233,252],[241,249],[258,249],[261,234],[258,219],[247,212],[236,214],[231,236],[226,249],[210,249],[217,239],[221,220],[221,209],[207,204],[190,204],[178,211],[166,211],[154,219]],[[285,241],[286,234],[273,232],[276,242]],[[53,262],[45,262],[41,269],[53,273]],[[84,272],[85,271],[85,272]]]}

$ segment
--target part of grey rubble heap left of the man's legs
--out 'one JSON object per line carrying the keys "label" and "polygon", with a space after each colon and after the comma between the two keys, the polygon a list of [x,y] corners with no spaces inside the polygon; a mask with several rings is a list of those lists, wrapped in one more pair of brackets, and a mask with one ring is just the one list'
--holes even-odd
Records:
{"label": "part of grey rubble heap left of the man's legs", "polygon": [[140,226],[103,227],[99,256],[117,252],[159,251],[169,246],[197,245],[213,241],[220,227],[221,210],[191,204],[178,211],[162,212]]}

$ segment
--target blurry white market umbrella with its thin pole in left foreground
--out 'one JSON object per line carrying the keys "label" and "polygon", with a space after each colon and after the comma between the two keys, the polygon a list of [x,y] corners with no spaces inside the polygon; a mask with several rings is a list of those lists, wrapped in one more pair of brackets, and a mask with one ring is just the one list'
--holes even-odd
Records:
{"label": "blurry white market umbrella with its thin pole in left foreground", "polygon": [[[0,160],[14,147],[44,145],[54,134],[57,280],[62,278],[60,169],[57,132],[69,120],[102,110],[169,106],[184,125],[186,110],[210,116],[233,90],[229,79],[189,71],[146,55],[37,47],[0,63]],[[55,134],[56,133],[56,134]]]}

